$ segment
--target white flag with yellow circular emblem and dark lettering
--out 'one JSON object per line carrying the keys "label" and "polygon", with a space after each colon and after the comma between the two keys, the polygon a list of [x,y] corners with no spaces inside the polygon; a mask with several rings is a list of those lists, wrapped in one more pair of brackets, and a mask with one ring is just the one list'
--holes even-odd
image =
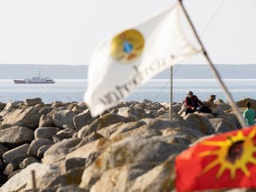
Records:
{"label": "white flag with yellow circular emblem and dark lettering", "polygon": [[84,101],[92,116],[124,101],[141,84],[198,52],[180,27],[180,4],[102,42],[92,53]]}

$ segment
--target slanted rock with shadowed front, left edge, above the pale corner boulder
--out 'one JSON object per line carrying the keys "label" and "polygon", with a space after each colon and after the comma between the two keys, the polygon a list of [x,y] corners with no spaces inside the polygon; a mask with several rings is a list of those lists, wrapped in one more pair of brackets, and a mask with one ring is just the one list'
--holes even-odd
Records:
{"label": "slanted rock with shadowed front, left edge, above the pale corner boulder", "polygon": [[18,148],[12,148],[11,150],[5,152],[3,155],[4,163],[11,164],[16,159],[19,159],[21,162],[23,159],[28,157],[27,155],[28,148],[29,148],[29,144],[27,143],[19,146]]}

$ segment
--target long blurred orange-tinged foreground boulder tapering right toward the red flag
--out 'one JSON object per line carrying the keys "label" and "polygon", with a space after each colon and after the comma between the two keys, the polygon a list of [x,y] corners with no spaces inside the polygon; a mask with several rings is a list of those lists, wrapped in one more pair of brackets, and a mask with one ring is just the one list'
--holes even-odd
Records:
{"label": "long blurred orange-tinged foreground boulder tapering right toward the red flag", "polygon": [[168,156],[178,154],[187,148],[161,141],[160,138],[126,138],[112,144],[84,170],[80,188],[91,188],[104,172],[112,168],[126,164],[161,164]]}

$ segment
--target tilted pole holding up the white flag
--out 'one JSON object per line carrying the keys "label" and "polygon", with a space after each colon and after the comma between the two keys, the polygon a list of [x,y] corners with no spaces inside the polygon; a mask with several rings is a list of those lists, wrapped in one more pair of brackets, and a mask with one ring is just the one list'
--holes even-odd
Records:
{"label": "tilted pole holding up the white flag", "polygon": [[222,89],[224,90],[224,93],[226,94],[226,97],[228,98],[228,101],[231,103],[231,108],[233,109],[233,111],[235,112],[236,114],[236,117],[239,121],[239,123],[241,124],[242,127],[245,127],[245,123],[244,123],[244,117],[242,116],[242,114],[239,112],[239,108],[237,107],[236,105],[236,102],[233,100],[231,94],[228,92],[228,89],[226,87],[226,85],[223,83],[223,81],[221,80],[220,78],[220,75],[217,71],[217,69],[213,66],[212,64],[212,60],[210,60],[210,57],[208,56],[207,52],[205,51],[204,49],[204,45],[202,44],[199,36],[197,35],[196,33],[196,28],[194,28],[193,24],[192,24],[192,21],[190,20],[189,16],[188,16],[188,12],[186,12],[185,10],[185,7],[184,5],[182,4],[182,0],[179,0],[179,3],[180,3],[180,6],[182,8],[182,11],[185,13],[185,16],[188,20],[188,23],[190,25],[190,27],[192,28],[193,32],[194,32],[194,35],[196,36],[196,39],[198,41],[198,43],[201,45],[202,47],[202,51],[204,53],[204,57],[205,59],[208,61],[208,63],[210,64],[210,67],[212,68],[212,73],[213,75],[219,80],[219,83],[222,87]]}

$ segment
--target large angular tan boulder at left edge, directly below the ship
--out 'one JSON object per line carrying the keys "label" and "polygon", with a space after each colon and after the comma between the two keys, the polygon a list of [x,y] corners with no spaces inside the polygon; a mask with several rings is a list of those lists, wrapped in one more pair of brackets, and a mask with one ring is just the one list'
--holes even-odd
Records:
{"label": "large angular tan boulder at left edge, directly below the ship", "polygon": [[38,127],[40,116],[38,108],[16,109],[3,117],[2,126],[24,126],[35,130]]}

